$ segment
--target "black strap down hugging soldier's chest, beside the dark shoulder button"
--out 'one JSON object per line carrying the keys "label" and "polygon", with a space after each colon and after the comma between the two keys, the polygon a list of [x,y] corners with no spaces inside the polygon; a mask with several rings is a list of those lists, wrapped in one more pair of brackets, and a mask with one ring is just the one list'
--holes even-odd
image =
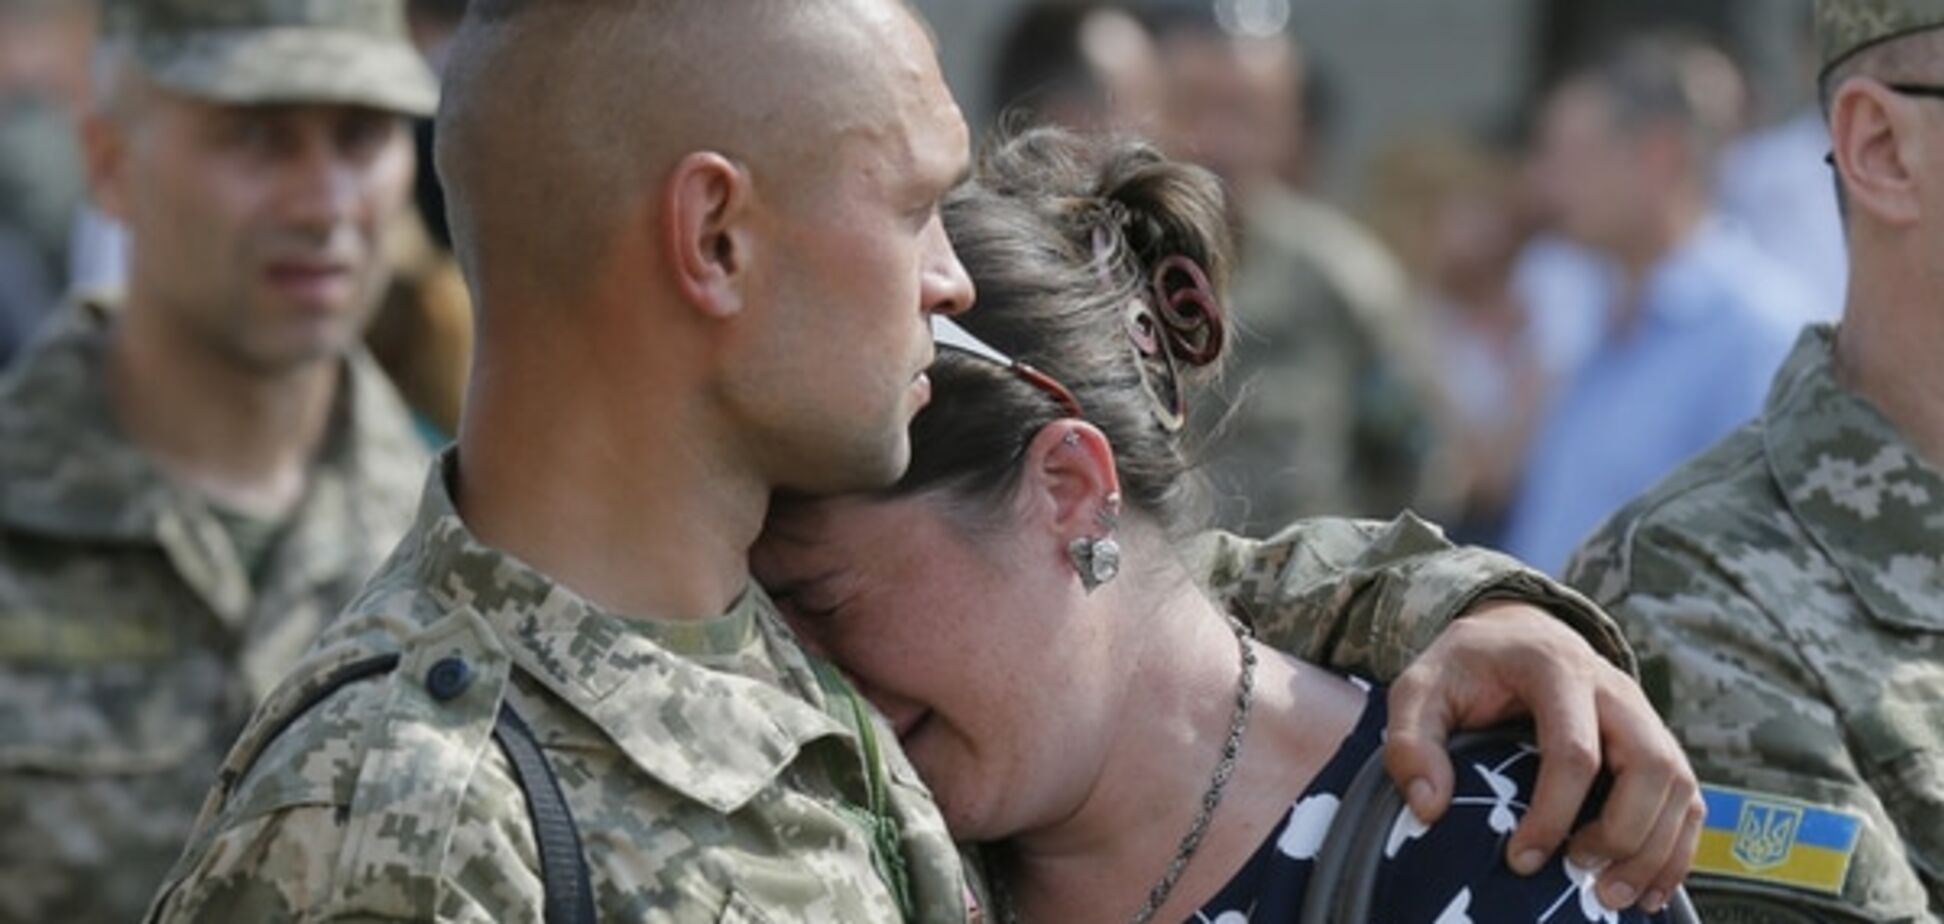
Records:
{"label": "black strap down hugging soldier's chest, beside the dark shoulder button", "polygon": [[533,838],[540,846],[540,885],[546,889],[546,924],[593,924],[595,891],[573,813],[533,729],[507,700],[500,702],[492,737],[513,764],[513,782],[527,798],[527,813],[533,817]]}

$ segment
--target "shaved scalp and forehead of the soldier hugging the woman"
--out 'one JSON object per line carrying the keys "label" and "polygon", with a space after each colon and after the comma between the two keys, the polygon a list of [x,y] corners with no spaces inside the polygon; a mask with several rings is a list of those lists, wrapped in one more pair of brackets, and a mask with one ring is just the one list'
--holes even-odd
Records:
{"label": "shaved scalp and forehead of the soldier hugging the woman", "polygon": [[883,134],[896,97],[923,86],[914,70],[935,68],[900,0],[472,6],[437,165],[486,311],[502,292],[585,284],[686,154],[729,158],[772,202],[815,191],[844,140]]}

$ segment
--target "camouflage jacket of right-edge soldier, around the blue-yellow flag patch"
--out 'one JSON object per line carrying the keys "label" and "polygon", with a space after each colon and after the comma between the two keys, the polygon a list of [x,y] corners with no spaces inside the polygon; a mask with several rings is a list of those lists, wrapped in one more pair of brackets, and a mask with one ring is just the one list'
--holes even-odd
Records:
{"label": "camouflage jacket of right-edge soldier, around the blue-yellow flag patch", "polygon": [[1635,500],[1571,582],[1639,648],[1703,782],[1860,815],[1841,897],[1699,877],[1860,920],[1944,916],[1944,473],[1804,333],[1763,416]]}

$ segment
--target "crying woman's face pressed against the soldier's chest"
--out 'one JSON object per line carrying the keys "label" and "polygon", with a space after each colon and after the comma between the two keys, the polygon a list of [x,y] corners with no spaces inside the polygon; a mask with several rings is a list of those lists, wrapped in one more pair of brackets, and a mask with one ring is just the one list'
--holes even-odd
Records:
{"label": "crying woman's face pressed against the soldier's chest", "polygon": [[968,531],[937,496],[834,498],[770,517],[750,556],[805,644],[890,718],[960,840],[1069,815],[1116,698],[1104,626],[1058,541]]}

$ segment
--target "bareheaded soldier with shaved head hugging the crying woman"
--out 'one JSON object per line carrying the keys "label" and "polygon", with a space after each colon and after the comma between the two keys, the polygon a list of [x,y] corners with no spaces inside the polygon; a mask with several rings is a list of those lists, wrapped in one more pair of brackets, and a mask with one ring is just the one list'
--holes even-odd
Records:
{"label": "bareheaded soldier with shaved head hugging the crying woman", "polygon": [[[929,317],[972,302],[939,218],[966,126],[923,25],[898,0],[476,0],[449,66],[437,161],[480,337],[459,445],[239,739],[152,916],[968,920],[894,735],[746,564],[774,490],[900,475]],[[1271,597],[1271,624],[1353,611],[1314,638],[1392,663],[1497,597],[1598,632],[1534,574],[1400,529],[1211,570]],[[1623,677],[1532,607],[1505,613],[1441,646],[1551,630],[1577,646],[1544,661],[1555,679]],[[1555,693],[1592,702],[1584,683]],[[1406,712],[1464,708],[1415,689]],[[1586,757],[1594,731],[1565,741]],[[1650,751],[1650,803],[1615,796],[1647,819],[1684,776]],[[1448,766],[1411,774],[1450,788]],[[1559,842],[1563,786],[1518,844]],[[1650,856],[1645,885],[1676,852],[1625,827],[1594,850]]]}

